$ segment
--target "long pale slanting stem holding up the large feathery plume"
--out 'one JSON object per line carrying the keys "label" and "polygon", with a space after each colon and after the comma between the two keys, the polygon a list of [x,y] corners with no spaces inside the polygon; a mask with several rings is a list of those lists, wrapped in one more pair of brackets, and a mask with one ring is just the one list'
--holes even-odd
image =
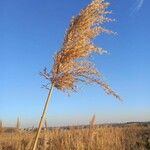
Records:
{"label": "long pale slanting stem holding up the large feathery plume", "polygon": [[35,137],[35,141],[34,141],[34,145],[33,145],[32,150],[36,150],[38,138],[39,138],[39,135],[40,135],[40,132],[41,132],[41,129],[42,129],[42,125],[43,125],[43,122],[45,120],[45,115],[46,115],[46,112],[47,112],[47,109],[48,109],[48,103],[49,103],[50,98],[52,96],[53,87],[54,87],[54,84],[51,85],[51,88],[49,90],[47,100],[46,100],[46,103],[45,103],[45,106],[44,106],[44,109],[43,109],[43,113],[42,113],[42,116],[41,116],[41,119],[40,119],[40,122],[39,122],[38,130],[37,130],[37,133],[36,133],[36,137]]}

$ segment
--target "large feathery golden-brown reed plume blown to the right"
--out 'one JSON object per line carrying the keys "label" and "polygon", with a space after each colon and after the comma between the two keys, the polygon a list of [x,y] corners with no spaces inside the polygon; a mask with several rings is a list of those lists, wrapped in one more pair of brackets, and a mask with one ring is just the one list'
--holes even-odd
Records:
{"label": "large feathery golden-brown reed plume blown to the right", "polygon": [[101,25],[112,21],[106,15],[108,3],[104,0],[93,0],[80,14],[73,17],[66,32],[61,50],[54,58],[54,66],[49,73],[47,69],[42,75],[62,91],[76,91],[77,83],[99,84],[107,94],[120,99],[110,86],[103,81],[101,73],[94,67],[89,57],[92,52],[103,54],[92,39],[101,33],[112,33]]}

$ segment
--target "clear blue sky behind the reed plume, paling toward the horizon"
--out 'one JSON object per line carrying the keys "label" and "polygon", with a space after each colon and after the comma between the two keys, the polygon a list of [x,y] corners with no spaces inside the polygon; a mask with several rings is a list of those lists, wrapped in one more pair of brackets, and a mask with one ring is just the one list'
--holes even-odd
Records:
{"label": "clear blue sky behind the reed plume, paling toward the horizon", "polygon": [[[39,72],[53,65],[72,16],[90,0],[0,0],[0,120],[15,126],[37,125],[47,90]],[[71,96],[54,90],[47,120],[51,126],[150,121],[150,2],[108,0],[115,22],[104,26],[117,35],[102,35],[95,44],[109,55],[93,55],[94,63],[123,102],[99,86],[80,85]]]}

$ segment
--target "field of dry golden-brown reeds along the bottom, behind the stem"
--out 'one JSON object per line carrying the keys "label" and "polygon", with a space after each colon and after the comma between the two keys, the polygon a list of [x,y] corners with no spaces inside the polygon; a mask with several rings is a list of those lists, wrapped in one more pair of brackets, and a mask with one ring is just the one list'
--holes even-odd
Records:
{"label": "field of dry golden-brown reeds along the bottom, behind the stem", "polygon": [[[0,150],[30,150],[34,130],[3,129]],[[150,124],[79,126],[42,130],[37,150],[149,150]]]}

